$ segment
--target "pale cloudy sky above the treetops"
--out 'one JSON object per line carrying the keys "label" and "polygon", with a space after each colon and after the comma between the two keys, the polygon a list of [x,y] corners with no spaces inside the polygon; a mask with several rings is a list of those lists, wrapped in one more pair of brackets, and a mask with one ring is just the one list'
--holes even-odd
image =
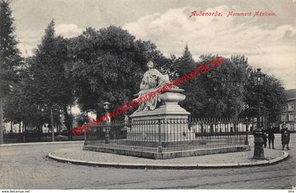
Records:
{"label": "pale cloudy sky above the treetops", "polygon": [[[56,34],[73,37],[86,27],[115,25],[137,39],[151,40],[164,55],[182,55],[185,44],[195,60],[202,54],[245,55],[296,88],[296,0],[12,0],[18,47],[32,55],[44,29],[54,19]],[[220,12],[221,17],[192,16],[192,11]],[[228,12],[252,16],[229,16]],[[255,11],[276,16],[253,17]]]}

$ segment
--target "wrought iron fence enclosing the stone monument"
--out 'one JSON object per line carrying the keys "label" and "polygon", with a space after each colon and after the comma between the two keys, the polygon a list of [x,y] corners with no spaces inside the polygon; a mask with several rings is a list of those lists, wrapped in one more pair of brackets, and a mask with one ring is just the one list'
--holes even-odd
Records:
{"label": "wrought iron fence enclosing the stone monument", "polygon": [[86,145],[147,152],[175,152],[245,145],[247,125],[234,119],[111,121],[91,128]]}

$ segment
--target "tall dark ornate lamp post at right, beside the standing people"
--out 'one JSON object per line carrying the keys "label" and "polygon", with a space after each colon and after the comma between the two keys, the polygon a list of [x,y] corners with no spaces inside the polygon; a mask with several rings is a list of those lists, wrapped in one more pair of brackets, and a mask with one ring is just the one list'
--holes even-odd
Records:
{"label": "tall dark ornate lamp post at right, beside the standing people", "polygon": [[257,129],[254,130],[254,156],[253,159],[264,159],[264,149],[263,149],[263,131],[261,128],[261,104],[260,104],[260,93],[261,93],[261,86],[264,84],[264,77],[265,74],[261,72],[261,69],[258,68],[257,72],[254,73],[254,86],[258,91],[258,114],[257,114]]}

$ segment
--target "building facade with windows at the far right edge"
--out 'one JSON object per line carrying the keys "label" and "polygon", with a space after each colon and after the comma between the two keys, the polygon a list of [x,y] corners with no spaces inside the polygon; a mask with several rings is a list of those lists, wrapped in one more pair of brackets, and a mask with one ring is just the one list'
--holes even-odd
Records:
{"label": "building facade with windows at the far right edge", "polygon": [[286,90],[287,102],[282,105],[282,112],[280,114],[280,128],[285,122],[287,128],[296,130],[296,89]]}

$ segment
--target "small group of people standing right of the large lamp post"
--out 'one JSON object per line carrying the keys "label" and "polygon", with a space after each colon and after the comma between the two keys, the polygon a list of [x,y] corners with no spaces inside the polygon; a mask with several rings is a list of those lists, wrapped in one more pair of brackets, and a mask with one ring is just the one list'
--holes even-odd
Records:
{"label": "small group of people standing right of the large lamp post", "polygon": [[[267,146],[267,139],[269,140],[269,149],[274,148],[274,133],[275,133],[275,128],[273,128],[272,124],[267,128],[266,131],[264,131],[264,147]],[[281,134],[281,140],[282,140],[282,145],[283,149],[285,146],[287,146],[287,149],[290,150],[289,148],[289,142],[290,142],[290,130],[288,130],[285,122],[282,125],[282,128],[280,129],[280,134]]]}

